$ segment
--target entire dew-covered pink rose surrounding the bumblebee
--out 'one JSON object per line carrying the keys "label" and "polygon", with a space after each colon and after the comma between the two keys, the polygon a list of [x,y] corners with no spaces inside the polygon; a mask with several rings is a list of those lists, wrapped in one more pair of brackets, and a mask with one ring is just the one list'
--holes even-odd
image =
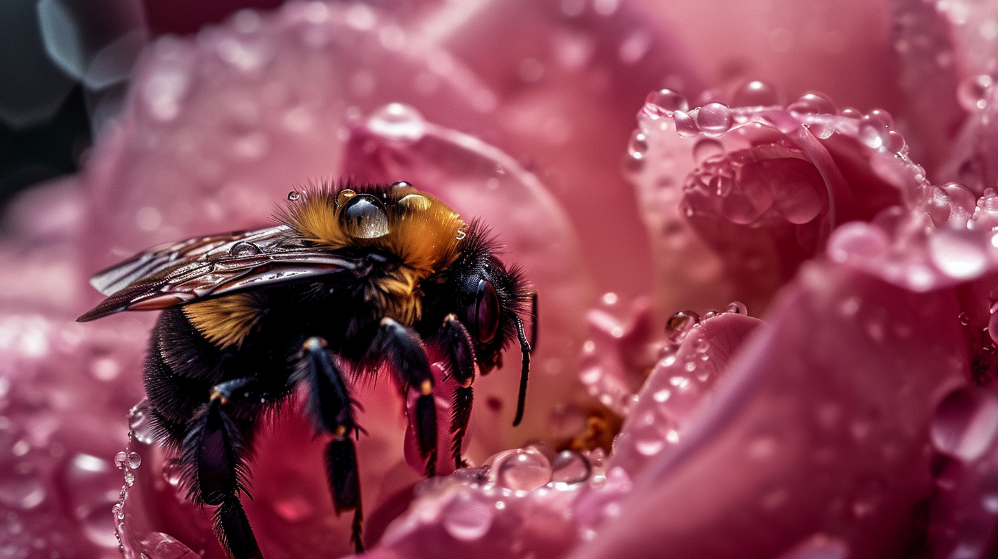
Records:
{"label": "entire dew-covered pink rose surrounding the bumblebee", "polygon": [[[369,555],[986,556],[992,4],[292,1],[156,39],[8,215],[0,552],[224,556],[139,404],[153,316],[74,322],[85,279],[352,177],[480,217],[541,304],[524,423],[515,367],[479,378],[468,468],[423,480],[394,385],[354,386]],[[347,555],[299,407],[244,505],[265,557]]]}

